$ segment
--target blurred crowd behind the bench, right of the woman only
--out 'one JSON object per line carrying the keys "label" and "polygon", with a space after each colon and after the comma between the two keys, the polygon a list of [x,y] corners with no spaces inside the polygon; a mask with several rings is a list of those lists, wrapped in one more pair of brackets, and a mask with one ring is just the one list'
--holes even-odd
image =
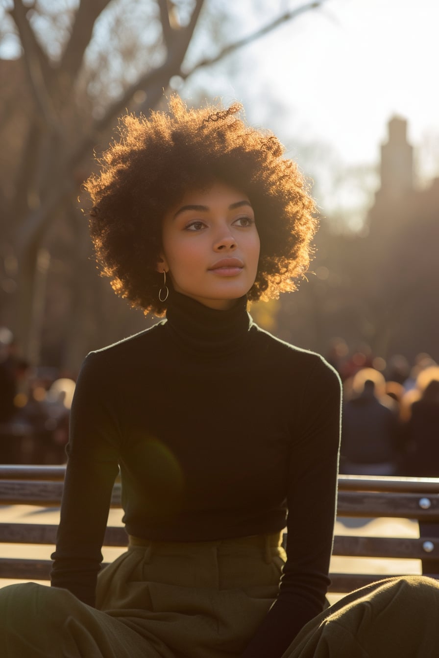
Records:
{"label": "blurred crowd behind the bench, right of the woman only", "polygon": [[439,365],[426,353],[388,363],[335,340],[328,360],[344,385],[340,472],[439,477]]}

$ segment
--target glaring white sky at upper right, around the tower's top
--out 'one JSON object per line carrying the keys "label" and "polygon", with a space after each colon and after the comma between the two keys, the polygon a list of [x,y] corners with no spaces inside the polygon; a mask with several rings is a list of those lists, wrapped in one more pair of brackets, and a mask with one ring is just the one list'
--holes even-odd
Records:
{"label": "glaring white sky at upper right, around the tower's top", "polygon": [[240,51],[244,74],[220,95],[283,141],[322,140],[346,164],[376,162],[399,114],[423,145],[424,174],[439,175],[438,30],[437,0],[326,0]]}

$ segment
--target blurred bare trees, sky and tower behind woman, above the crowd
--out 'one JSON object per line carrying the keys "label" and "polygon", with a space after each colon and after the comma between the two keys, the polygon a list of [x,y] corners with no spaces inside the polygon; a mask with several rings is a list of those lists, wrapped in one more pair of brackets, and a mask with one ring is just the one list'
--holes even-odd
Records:
{"label": "blurred bare trees, sky and tower behind woman, above the crowd", "polygon": [[385,369],[439,360],[439,5],[434,0],[1,0],[0,326],[32,365],[157,318],[93,263],[81,191],[125,111],[242,101],[313,182],[321,228],[299,290],[259,324]]}

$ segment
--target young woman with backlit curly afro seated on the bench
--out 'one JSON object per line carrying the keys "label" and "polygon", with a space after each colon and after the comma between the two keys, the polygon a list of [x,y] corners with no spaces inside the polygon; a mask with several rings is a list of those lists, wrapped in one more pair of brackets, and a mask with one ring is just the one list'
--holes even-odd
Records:
{"label": "young woman with backlit curly afro seated on the bench", "polygon": [[[434,581],[415,578],[323,612],[340,382],[247,313],[247,301],[294,289],[314,205],[278,140],[239,109],[188,111],[174,98],[169,113],[126,116],[86,184],[103,272],[167,319],[84,362],[53,587],[0,591],[2,655],[412,656],[413,611],[398,617],[398,651],[376,652],[394,601],[421,592],[439,609]],[[119,469],[129,546],[100,571]]]}

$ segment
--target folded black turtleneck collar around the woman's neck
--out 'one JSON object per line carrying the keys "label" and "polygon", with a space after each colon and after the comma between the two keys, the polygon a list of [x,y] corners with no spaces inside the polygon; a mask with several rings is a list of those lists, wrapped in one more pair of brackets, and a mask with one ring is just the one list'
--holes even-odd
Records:
{"label": "folded black turtleneck collar around the woman's neck", "polygon": [[174,290],[169,291],[165,327],[184,349],[224,355],[243,347],[252,324],[247,313],[247,296],[231,309],[218,311]]}

